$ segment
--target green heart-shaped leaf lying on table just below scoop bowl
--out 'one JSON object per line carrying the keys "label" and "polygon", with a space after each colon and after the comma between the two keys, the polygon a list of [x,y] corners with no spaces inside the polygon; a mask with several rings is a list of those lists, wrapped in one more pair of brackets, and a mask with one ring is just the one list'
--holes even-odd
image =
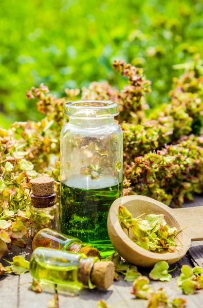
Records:
{"label": "green heart-shaped leaf lying on table just below scoop bowl", "polygon": [[169,264],[165,261],[159,261],[154,265],[150,272],[150,278],[153,280],[170,281],[172,276],[168,273]]}

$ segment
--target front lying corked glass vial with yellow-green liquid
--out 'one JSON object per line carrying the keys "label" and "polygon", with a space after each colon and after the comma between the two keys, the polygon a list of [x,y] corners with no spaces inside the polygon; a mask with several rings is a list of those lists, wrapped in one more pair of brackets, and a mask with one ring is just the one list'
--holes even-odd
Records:
{"label": "front lying corked glass vial with yellow-green liquid", "polygon": [[30,274],[39,281],[77,288],[97,286],[106,290],[114,280],[114,263],[40,247],[31,255]]}

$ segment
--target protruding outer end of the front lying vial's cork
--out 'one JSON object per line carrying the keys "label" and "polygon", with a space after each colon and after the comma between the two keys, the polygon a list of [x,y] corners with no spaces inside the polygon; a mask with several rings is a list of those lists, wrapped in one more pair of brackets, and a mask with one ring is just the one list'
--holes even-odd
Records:
{"label": "protruding outer end of the front lying vial's cork", "polygon": [[104,290],[107,290],[107,288],[109,288],[109,286],[111,286],[113,283],[114,274],[114,263],[112,261],[96,262],[94,263],[93,269],[91,271],[91,283],[97,287],[101,287]]}

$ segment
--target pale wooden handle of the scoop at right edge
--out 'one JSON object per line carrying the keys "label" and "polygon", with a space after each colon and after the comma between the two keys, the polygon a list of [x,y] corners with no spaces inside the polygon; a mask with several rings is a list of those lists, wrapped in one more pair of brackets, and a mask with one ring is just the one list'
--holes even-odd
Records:
{"label": "pale wooden handle of the scoop at right edge", "polygon": [[184,233],[191,241],[203,240],[203,206],[172,209],[173,216],[178,220]]}

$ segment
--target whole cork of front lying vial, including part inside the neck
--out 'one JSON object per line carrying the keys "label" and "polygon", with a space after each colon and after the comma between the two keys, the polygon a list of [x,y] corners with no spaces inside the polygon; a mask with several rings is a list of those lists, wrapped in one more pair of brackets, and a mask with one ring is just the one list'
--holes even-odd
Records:
{"label": "whole cork of front lying vial, including part inside the neck", "polygon": [[104,290],[112,285],[114,280],[114,263],[109,262],[95,262],[93,258],[82,259],[78,267],[78,280],[86,286],[91,284],[101,287]]}

